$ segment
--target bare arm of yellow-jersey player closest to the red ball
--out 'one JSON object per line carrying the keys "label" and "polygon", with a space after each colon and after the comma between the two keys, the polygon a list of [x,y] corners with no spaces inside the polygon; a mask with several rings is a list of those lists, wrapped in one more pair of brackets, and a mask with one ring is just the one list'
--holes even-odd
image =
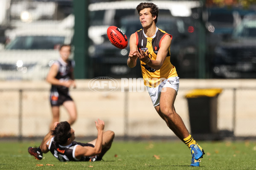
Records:
{"label": "bare arm of yellow-jersey player closest to the red ball", "polygon": [[127,60],[127,65],[130,68],[134,68],[137,64],[137,53],[136,51],[138,50],[137,44],[136,44],[136,34],[131,34],[130,41],[130,53],[129,53],[129,58]]}

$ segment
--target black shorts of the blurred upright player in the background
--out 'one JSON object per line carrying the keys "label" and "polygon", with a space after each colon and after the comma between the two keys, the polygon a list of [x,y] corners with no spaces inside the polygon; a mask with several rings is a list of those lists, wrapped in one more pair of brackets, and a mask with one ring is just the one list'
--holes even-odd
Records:
{"label": "black shorts of the blurred upright player in the background", "polygon": [[67,93],[61,93],[57,89],[51,89],[51,94],[50,94],[51,106],[60,106],[66,101],[73,101],[68,91]]}

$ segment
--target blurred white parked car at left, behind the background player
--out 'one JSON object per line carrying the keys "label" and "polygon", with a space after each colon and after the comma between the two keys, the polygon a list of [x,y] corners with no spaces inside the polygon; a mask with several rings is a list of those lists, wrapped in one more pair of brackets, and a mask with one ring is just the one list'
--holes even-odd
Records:
{"label": "blurred white parked car at left, behind the background player", "polygon": [[59,45],[70,43],[73,31],[29,27],[12,35],[0,50],[0,80],[42,80],[59,57]]}

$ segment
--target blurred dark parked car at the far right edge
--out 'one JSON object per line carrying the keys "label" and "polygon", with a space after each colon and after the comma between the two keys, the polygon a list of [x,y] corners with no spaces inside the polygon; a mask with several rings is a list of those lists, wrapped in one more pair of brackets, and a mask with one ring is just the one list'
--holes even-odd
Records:
{"label": "blurred dark parked car at the far right edge", "polygon": [[256,15],[244,17],[230,40],[215,48],[212,71],[215,77],[256,78]]}

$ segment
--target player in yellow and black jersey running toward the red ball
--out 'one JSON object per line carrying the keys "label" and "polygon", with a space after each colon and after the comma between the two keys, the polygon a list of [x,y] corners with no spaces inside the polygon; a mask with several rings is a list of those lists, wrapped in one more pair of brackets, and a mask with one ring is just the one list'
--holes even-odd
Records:
{"label": "player in yellow and black jersey running toward the red ball", "polygon": [[143,29],[131,34],[127,65],[133,68],[136,66],[137,59],[140,59],[144,85],[146,85],[155,110],[175,135],[191,150],[190,166],[198,167],[204,150],[189,134],[174,107],[179,89],[179,77],[175,66],[170,62],[172,35],[157,28],[159,11],[154,3],[140,3],[136,9]]}

